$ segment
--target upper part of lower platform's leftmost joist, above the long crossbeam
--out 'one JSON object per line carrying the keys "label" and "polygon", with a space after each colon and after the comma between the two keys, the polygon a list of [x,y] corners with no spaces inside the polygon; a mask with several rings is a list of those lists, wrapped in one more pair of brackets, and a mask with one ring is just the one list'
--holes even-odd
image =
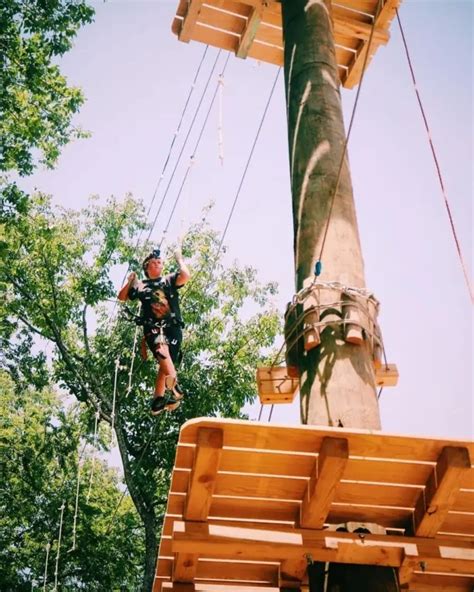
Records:
{"label": "upper part of lower platform's leftmost joist, above the long crossbeam", "polygon": [[186,520],[205,520],[208,516],[223,442],[223,431],[219,428],[203,427],[198,431],[198,449],[184,510]]}

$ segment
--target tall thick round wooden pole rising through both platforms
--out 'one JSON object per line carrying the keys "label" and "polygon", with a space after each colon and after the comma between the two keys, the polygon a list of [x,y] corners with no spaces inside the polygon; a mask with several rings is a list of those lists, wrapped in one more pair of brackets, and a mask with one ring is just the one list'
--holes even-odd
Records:
{"label": "tall thick round wooden pole rising through both platforms", "polygon": [[[285,84],[293,196],[296,288],[314,277],[343,154],[343,123],[330,0],[282,0]],[[347,157],[333,202],[321,279],[365,288]],[[335,311],[337,316],[338,311]],[[301,420],[380,429],[371,352],[327,327],[321,344],[298,357]],[[378,566],[330,566],[327,592],[396,592],[397,576]]]}

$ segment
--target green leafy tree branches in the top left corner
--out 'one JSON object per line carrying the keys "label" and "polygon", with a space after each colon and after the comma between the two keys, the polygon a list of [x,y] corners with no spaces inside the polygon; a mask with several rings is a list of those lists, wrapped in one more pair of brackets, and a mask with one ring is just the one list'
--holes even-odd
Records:
{"label": "green leafy tree branches in the top left corner", "polygon": [[[84,132],[72,119],[84,102],[54,60],[92,22],[84,0],[3,0],[0,11],[0,172],[29,175],[54,166],[61,148]],[[24,209],[27,195],[0,177],[0,221]]]}

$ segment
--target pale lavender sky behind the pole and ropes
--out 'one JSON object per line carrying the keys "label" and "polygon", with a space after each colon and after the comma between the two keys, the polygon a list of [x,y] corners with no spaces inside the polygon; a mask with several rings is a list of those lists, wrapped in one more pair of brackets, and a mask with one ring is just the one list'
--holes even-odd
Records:
{"label": "pale lavender sky behind the pole and ropes", "polygon": [[[151,203],[205,49],[179,42],[171,32],[176,5],[177,0],[93,3],[94,23],[79,32],[60,62],[69,82],[85,93],[75,123],[91,137],[65,147],[54,170],[24,179],[25,189],[50,193],[72,208],[84,207],[93,194],[105,200],[131,192]],[[472,277],[473,4],[405,0],[400,18]],[[215,48],[206,54],[151,219],[217,54]],[[190,164],[227,55],[218,58],[153,238],[163,237],[189,168],[167,238],[199,219],[210,201],[210,222],[223,231],[237,197],[225,237],[227,260],[252,265],[262,282],[277,282],[275,304],[283,313],[295,290],[283,72],[239,194],[276,66],[230,56]],[[342,91],[346,125],[355,92]],[[378,50],[364,77],[348,150],[366,284],[381,302],[387,358],[400,373],[398,386],[382,392],[382,428],[472,438],[472,305],[396,21],[389,44]],[[259,409],[255,404],[246,410],[256,419]],[[298,424],[298,402],[275,406],[271,421]]]}

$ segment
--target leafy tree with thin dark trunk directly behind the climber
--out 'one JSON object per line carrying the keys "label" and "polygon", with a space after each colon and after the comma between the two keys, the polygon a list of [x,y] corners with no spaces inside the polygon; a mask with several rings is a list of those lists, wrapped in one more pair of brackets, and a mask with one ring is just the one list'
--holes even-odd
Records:
{"label": "leafy tree with thin dark trunk directly behind the climber", "polygon": [[[251,268],[224,269],[218,235],[205,222],[193,226],[183,245],[194,277],[182,290],[180,369],[189,395],[173,414],[152,418],[155,364],[134,356],[134,329],[126,317],[112,320],[110,307],[101,307],[115,298],[110,277],[117,264],[139,270],[135,258],[143,253],[135,244],[144,227],[143,210],[131,196],[82,212],[54,209],[46,196],[34,196],[28,212],[7,227],[0,307],[5,363],[18,359],[20,333],[52,342],[54,381],[97,410],[103,422],[114,422],[125,481],[144,526],[145,592],[153,582],[179,428],[199,415],[241,417],[241,407],[255,396],[255,368],[266,361],[280,319],[275,310],[264,310],[275,286],[259,285]],[[243,322],[249,301],[261,311]]]}

